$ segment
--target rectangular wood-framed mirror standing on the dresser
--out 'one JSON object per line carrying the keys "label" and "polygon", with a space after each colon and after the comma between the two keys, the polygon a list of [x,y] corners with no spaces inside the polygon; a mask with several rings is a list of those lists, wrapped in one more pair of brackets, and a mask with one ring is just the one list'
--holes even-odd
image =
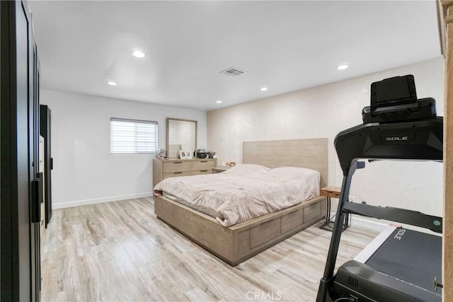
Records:
{"label": "rectangular wood-framed mirror standing on the dresser", "polygon": [[178,158],[180,150],[197,149],[197,121],[167,117],[167,157]]}

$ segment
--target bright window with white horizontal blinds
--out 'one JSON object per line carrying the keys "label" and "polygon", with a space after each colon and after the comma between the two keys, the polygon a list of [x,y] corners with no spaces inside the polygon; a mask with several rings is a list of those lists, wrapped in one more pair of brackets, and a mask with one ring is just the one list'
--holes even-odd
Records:
{"label": "bright window with white horizontal blinds", "polygon": [[110,119],[110,153],[155,153],[157,122]]}

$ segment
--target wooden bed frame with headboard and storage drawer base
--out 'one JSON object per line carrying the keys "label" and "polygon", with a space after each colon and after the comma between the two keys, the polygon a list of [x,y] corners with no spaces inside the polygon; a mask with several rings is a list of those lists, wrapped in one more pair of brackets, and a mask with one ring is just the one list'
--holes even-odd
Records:
{"label": "wooden bed frame with headboard and storage drawer base", "polygon": [[[321,187],[325,187],[328,177],[327,144],[327,139],[243,142],[243,163],[256,163],[269,168],[292,165],[318,170]],[[315,197],[294,207],[229,227],[166,197],[154,196],[154,212],[161,221],[234,266],[324,219],[326,197]]]}

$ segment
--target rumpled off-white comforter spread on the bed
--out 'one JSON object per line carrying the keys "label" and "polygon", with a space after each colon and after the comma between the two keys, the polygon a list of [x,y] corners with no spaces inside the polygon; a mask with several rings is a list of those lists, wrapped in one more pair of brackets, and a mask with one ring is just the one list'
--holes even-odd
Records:
{"label": "rumpled off-white comforter spread on the bed", "polygon": [[166,178],[154,194],[232,226],[318,196],[320,177],[306,168],[236,165],[224,173]]}

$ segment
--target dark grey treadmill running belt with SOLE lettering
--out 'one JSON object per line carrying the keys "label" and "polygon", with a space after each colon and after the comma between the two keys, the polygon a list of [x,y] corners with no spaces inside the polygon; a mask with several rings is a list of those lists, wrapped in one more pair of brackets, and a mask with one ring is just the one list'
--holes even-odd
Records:
{"label": "dark grey treadmill running belt with SOLE lettering", "polygon": [[432,281],[442,283],[442,237],[396,228],[394,233],[377,249],[366,265],[373,269],[435,291]]}

